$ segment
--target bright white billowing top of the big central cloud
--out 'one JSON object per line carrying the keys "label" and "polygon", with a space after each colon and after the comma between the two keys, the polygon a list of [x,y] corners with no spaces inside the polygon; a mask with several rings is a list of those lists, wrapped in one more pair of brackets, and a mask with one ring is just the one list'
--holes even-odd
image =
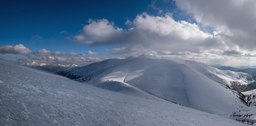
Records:
{"label": "bright white billowing top of the big central cloud", "polygon": [[164,17],[150,16],[147,13],[138,15],[133,21],[136,29],[140,33],[157,34],[157,37],[174,37],[178,39],[205,39],[211,37],[209,33],[204,33],[198,25],[186,21],[176,22],[170,14]]}

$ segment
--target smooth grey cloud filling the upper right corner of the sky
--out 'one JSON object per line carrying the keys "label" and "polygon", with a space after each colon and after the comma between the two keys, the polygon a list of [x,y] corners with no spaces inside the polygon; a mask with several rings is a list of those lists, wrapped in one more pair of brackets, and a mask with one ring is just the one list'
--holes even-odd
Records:
{"label": "smooth grey cloud filling the upper right corner of the sky", "polygon": [[[202,26],[212,27],[227,43],[244,50],[256,47],[255,0],[175,0],[177,6],[192,15]],[[227,34],[228,33],[228,34]],[[226,35],[225,35],[226,34]]]}

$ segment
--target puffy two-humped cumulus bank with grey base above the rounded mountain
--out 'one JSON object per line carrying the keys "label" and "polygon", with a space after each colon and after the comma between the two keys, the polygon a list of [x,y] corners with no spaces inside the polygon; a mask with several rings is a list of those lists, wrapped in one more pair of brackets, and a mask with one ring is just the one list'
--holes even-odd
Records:
{"label": "puffy two-humped cumulus bank with grey base above the rounded mountain", "polygon": [[[83,27],[83,32],[74,37],[74,41],[88,45],[118,43],[130,51],[147,49],[198,52],[201,48],[221,47],[221,43],[213,35],[200,30],[197,24],[177,22],[168,13],[164,16],[142,13],[126,24],[134,27],[123,30],[106,19],[90,20]],[[126,53],[124,50],[120,51]],[[114,53],[121,54],[117,50]]]}

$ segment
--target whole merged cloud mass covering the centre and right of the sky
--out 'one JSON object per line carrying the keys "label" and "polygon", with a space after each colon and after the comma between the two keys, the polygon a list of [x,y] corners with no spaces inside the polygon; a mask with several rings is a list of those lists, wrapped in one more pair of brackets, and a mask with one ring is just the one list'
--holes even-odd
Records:
{"label": "whole merged cloud mass covering the centre and right of the sky", "polygon": [[88,45],[119,44],[121,46],[110,50],[112,54],[133,56],[162,54],[182,59],[227,61],[233,58],[234,61],[239,56],[245,60],[256,54],[256,8],[250,7],[254,1],[176,2],[180,9],[195,18],[196,23],[175,21],[169,13],[163,16],[141,13],[134,20],[126,21],[126,25],[130,26],[127,30],[106,19],[90,20],[74,41]]}

